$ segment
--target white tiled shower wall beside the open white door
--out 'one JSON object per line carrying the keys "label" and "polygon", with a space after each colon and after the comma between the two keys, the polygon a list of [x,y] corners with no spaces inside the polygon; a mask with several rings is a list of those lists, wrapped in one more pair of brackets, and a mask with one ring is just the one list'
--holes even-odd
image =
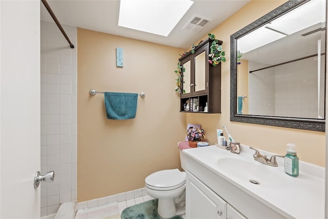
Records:
{"label": "white tiled shower wall beside the open white door", "polygon": [[77,29],[63,26],[71,49],[55,23],[41,21],[41,173],[55,171],[41,184],[41,216],[76,200]]}

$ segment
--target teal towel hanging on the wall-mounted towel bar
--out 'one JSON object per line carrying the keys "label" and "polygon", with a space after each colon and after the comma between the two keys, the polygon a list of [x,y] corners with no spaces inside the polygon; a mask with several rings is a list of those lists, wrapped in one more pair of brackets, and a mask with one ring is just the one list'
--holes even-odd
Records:
{"label": "teal towel hanging on the wall-mounted towel bar", "polygon": [[128,120],[135,118],[137,112],[137,93],[105,92],[107,118],[111,120]]}

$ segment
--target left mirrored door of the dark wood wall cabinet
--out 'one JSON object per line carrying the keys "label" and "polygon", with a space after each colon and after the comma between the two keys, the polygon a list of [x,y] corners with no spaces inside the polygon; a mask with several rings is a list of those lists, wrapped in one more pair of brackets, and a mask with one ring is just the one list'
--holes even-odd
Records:
{"label": "left mirrored door of the dark wood wall cabinet", "polygon": [[182,83],[181,83],[181,97],[182,96],[191,96],[193,82],[192,82],[192,65],[191,59],[186,59],[181,62],[182,66]]}

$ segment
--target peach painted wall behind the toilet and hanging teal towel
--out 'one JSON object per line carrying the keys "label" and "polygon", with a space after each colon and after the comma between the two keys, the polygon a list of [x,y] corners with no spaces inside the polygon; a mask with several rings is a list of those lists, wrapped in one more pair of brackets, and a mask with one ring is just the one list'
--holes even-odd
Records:
{"label": "peach painted wall behind the toilet and hanging teal towel", "polygon": [[[106,33],[77,29],[78,202],[145,185],[145,177],[180,168],[177,142],[185,140],[174,70],[183,50]],[[116,48],[124,67],[116,67]],[[145,92],[136,118],[107,120],[104,95]]]}

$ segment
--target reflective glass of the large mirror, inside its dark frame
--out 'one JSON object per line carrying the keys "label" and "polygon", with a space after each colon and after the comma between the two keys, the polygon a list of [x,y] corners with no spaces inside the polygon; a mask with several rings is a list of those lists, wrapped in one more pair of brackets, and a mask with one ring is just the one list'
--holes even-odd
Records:
{"label": "reflective glass of the large mirror, inside its dark frame", "polygon": [[237,38],[237,51],[237,114],[324,119],[325,1]]}

